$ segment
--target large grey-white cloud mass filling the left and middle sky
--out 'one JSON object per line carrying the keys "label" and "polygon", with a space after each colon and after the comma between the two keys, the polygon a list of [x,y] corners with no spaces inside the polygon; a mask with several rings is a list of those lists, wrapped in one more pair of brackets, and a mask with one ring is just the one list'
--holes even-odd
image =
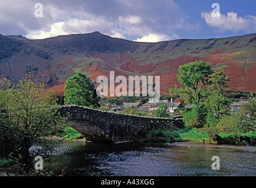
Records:
{"label": "large grey-white cloud mass filling the left and middle sky", "polygon": [[[176,29],[199,28],[186,22],[173,0],[45,0],[44,16],[34,15],[33,0],[4,1],[0,4],[0,33],[42,39],[71,33],[99,31],[133,41],[172,39]],[[8,7],[8,9],[6,9]]]}

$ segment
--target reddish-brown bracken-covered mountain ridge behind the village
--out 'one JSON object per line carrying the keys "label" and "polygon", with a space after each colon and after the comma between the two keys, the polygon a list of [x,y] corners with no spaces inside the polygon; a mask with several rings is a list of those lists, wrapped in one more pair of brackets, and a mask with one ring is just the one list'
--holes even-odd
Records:
{"label": "reddish-brown bracken-covered mountain ridge behind the village", "polygon": [[48,89],[63,90],[77,70],[97,76],[160,76],[160,91],[179,85],[184,63],[202,59],[212,67],[228,65],[228,89],[256,92],[256,33],[213,39],[133,42],[99,32],[27,39],[0,34],[0,78],[18,82],[31,72]]}

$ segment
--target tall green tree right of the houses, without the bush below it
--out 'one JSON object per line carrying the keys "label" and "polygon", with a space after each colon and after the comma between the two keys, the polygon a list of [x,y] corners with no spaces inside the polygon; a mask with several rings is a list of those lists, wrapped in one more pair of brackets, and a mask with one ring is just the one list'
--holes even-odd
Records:
{"label": "tall green tree right of the houses, without the bush below it", "polygon": [[175,85],[175,88],[170,88],[169,92],[183,95],[187,104],[193,103],[199,106],[205,95],[204,86],[208,85],[208,76],[212,73],[211,64],[201,60],[185,63],[179,66],[178,72],[177,78],[185,88],[178,88]]}

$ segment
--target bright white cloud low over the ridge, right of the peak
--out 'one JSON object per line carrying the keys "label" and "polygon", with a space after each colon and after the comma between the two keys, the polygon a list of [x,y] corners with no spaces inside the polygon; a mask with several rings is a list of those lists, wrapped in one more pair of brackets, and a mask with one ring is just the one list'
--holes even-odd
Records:
{"label": "bright white cloud low over the ridge, right of the peak", "polygon": [[143,36],[142,38],[137,38],[137,40],[133,40],[136,42],[160,42],[160,41],[169,41],[171,39],[178,38],[178,35],[173,34],[172,36],[169,35],[161,35],[161,34],[149,34]]}

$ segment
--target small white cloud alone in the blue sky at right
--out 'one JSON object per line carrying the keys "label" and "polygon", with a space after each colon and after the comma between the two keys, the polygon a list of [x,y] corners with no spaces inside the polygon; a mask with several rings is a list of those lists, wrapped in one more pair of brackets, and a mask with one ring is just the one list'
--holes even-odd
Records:
{"label": "small white cloud alone in the blue sky at right", "polygon": [[235,12],[227,12],[227,15],[220,14],[219,17],[213,17],[211,13],[202,12],[201,16],[205,19],[206,24],[217,28],[219,32],[256,31],[256,16],[247,15],[242,18]]}

